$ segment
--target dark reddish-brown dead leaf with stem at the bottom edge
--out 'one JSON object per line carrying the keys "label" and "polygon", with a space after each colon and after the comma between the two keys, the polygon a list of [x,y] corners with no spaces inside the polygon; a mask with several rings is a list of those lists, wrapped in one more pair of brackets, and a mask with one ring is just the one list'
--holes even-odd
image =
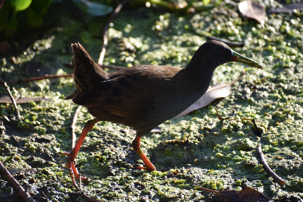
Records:
{"label": "dark reddish-brown dead leaf with stem at the bottom edge", "polygon": [[270,199],[261,192],[251,188],[243,187],[241,191],[236,190],[223,190],[216,191],[200,187],[200,190],[209,191],[218,194],[220,202],[268,202]]}

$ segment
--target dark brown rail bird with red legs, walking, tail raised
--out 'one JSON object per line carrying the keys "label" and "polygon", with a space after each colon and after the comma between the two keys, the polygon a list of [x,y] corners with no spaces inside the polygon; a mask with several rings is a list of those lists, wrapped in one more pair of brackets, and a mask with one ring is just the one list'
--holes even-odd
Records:
{"label": "dark brown rail bird with red legs, walking, tail raised", "polygon": [[[146,167],[154,171],[140,147],[140,139],[164,121],[180,114],[208,89],[215,68],[236,61],[263,69],[255,62],[231,50],[219,41],[207,41],[198,48],[185,68],[138,65],[107,73],[88,55],[80,43],[72,44],[76,91],[68,95],[95,117],[88,121],[68,155],[69,172],[76,187],[79,178],[74,160],[84,138],[98,121],[110,121],[132,127],[137,135],[132,142]],[[85,179],[85,178],[82,178]]]}

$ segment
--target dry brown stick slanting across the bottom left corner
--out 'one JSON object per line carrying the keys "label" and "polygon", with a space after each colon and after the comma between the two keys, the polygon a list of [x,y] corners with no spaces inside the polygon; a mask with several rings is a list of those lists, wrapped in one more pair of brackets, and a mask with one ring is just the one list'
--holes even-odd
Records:
{"label": "dry brown stick slanting across the bottom left corner", "polygon": [[23,197],[27,202],[35,202],[35,200],[29,195],[28,191],[25,190],[20,183],[8,172],[5,166],[0,161],[0,170],[8,178],[8,180],[13,184],[13,186],[18,190],[18,196]]}

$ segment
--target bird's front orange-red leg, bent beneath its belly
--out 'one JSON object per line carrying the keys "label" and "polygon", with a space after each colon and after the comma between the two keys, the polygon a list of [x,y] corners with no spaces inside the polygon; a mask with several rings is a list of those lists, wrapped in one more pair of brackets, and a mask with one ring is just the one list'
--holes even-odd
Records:
{"label": "bird's front orange-red leg, bent beneath its belly", "polygon": [[145,154],[143,153],[143,151],[140,147],[140,140],[143,135],[145,135],[145,134],[142,134],[141,132],[137,131],[137,136],[135,137],[134,141],[132,142],[132,146],[133,146],[135,152],[142,159],[142,161],[146,167],[135,167],[135,168],[136,169],[146,169],[149,172],[155,171],[156,170],[155,166],[148,160],[148,158],[145,156]]}

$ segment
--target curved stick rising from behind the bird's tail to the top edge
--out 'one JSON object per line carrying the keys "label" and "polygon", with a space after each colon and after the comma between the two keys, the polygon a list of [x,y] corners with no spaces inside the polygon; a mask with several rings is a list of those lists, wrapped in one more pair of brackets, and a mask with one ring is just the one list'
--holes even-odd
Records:
{"label": "curved stick rising from behind the bird's tail to the top edge", "polygon": [[108,28],[109,28],[109,24],[112,22],[113,18],[115,17],[115,15],[117,15],[120,11],[121,8],[128,2],[129,0],[124,0],[123,2],[121,2],[117,8],[114,10],[114,12],[112,12],[112,14],[109,16],[108,21],[106,22],[104,28],[103,28],[103,32],[102,32],[102,37],[103,37],[103,45],[101,47],[101,52],[100,52],[100,56],[99,56],[99,60],[98,60],[98,65],[103,65],[103,59],[105,56],[105,52],[106,52],[106,46],[107,46],[107,42],[108,42],[108,38],[107,38],[107,32],[108,32]]}

